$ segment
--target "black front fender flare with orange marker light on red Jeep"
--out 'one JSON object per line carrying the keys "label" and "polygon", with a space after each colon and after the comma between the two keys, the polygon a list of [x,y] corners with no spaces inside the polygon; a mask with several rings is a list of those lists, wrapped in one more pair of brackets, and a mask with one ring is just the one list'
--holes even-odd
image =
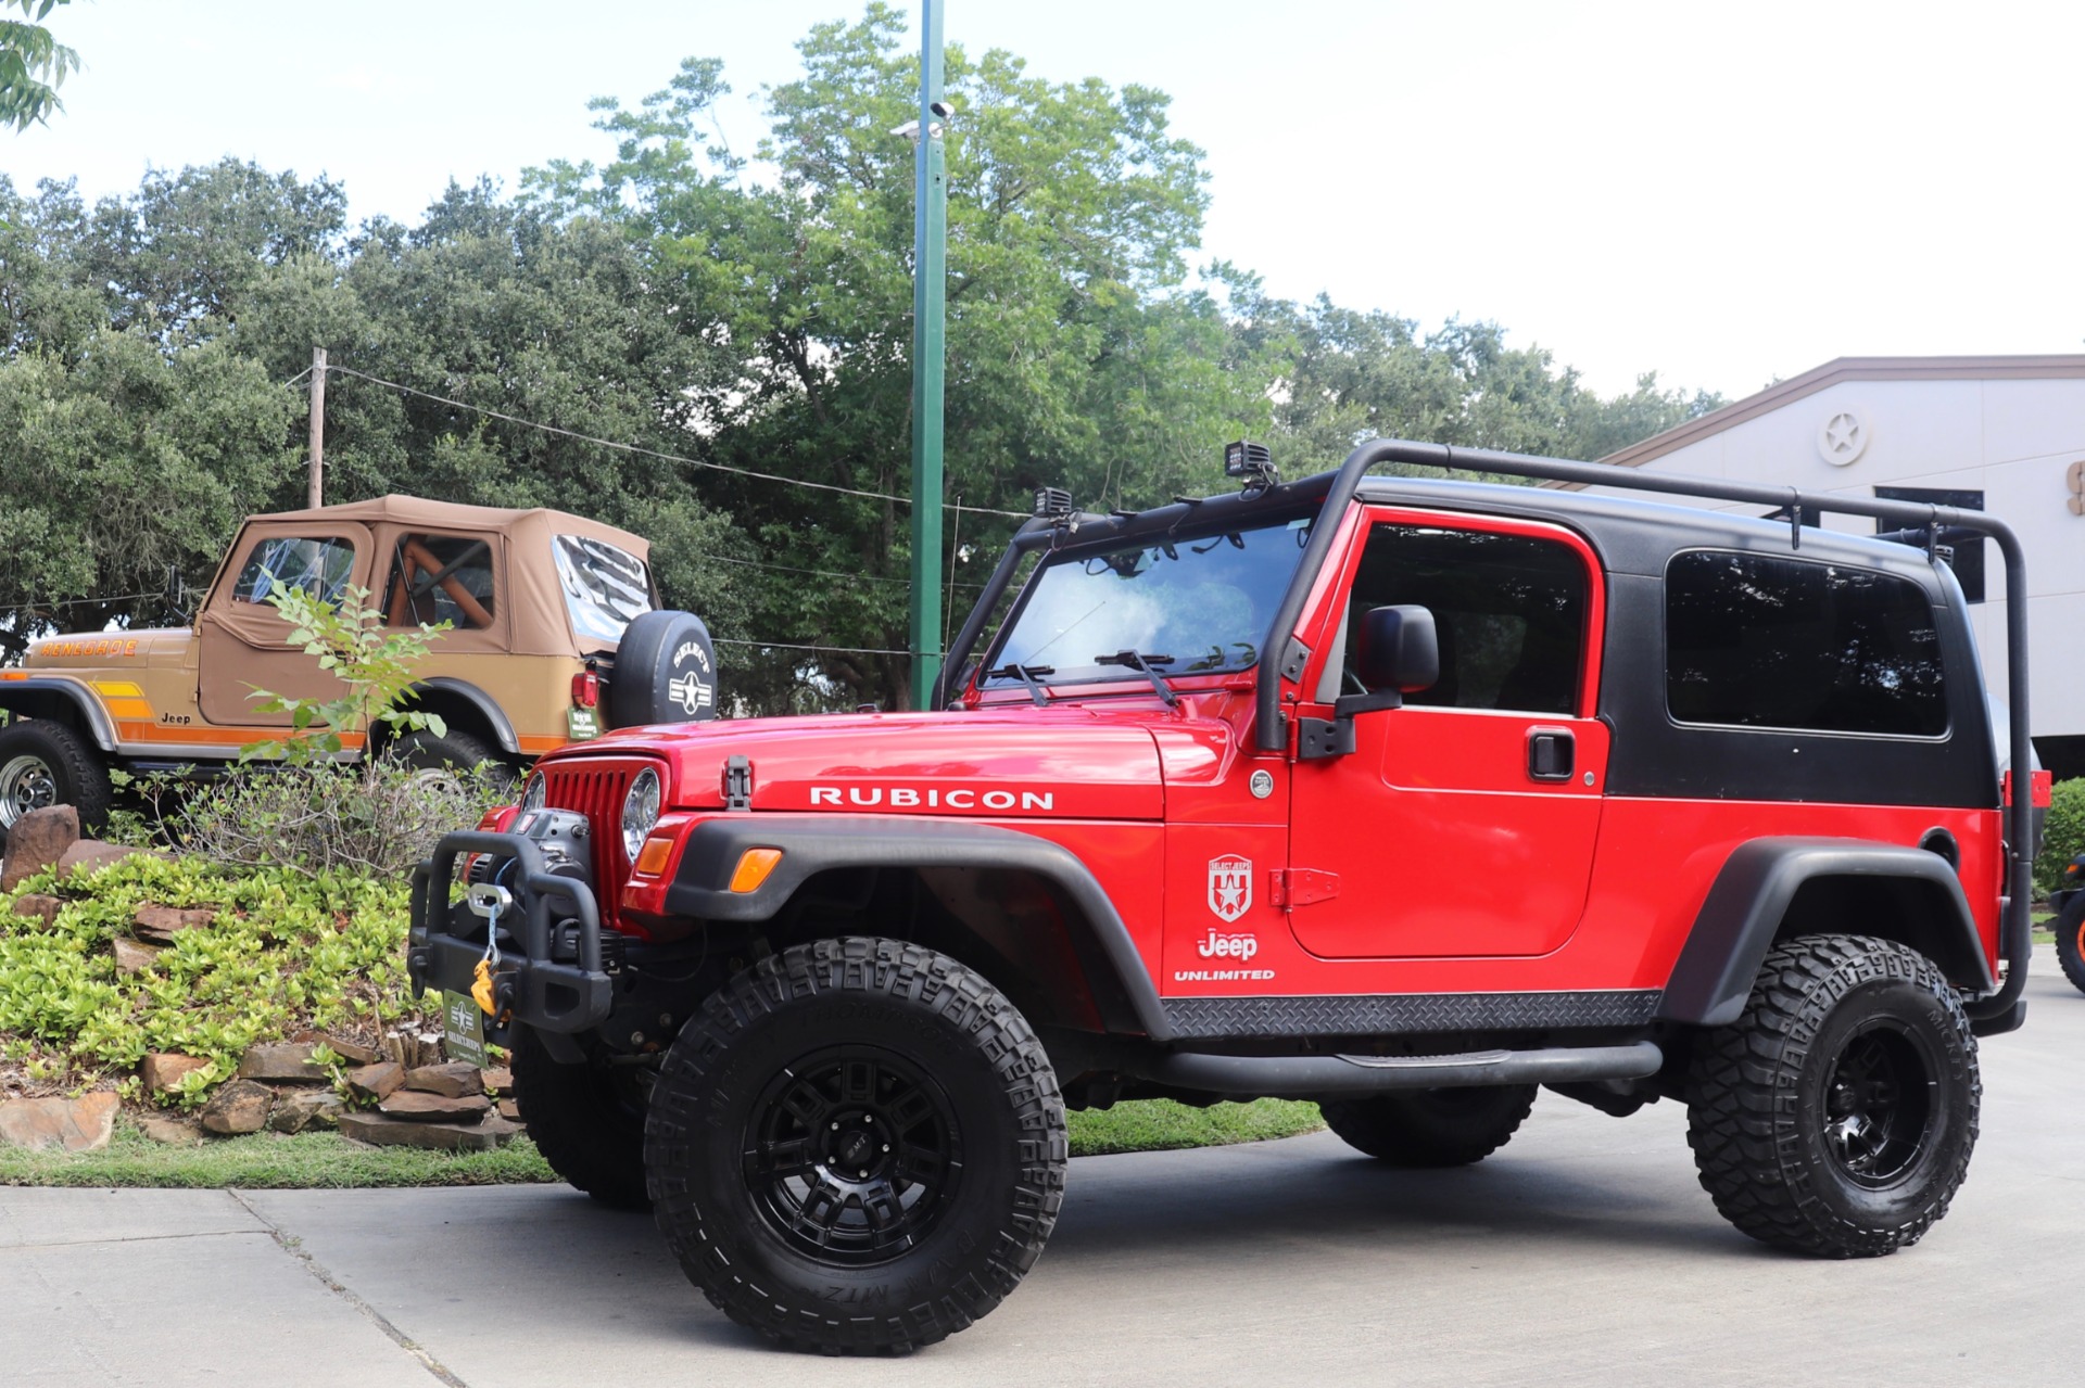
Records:
{"label": "black front fender flare with orange marker light on red Jeep", "polygon": [[[746,848],[780,848],[782,861],[753,892],[732,892]],[[688,834],[667,886],[673,915],[707,921],[767,921],[813,873],[834,867],[986,867],[1030,871],[1063,894],[1086,932],[1072,946],[1097,992],[1113,986],[1136,1025],[1157,1044],[1174,1040],[1159,992],[1130,940],[1130,927],[1070,848],[988,823],[872,815],[728,815]],[[1082,938],[1084,936],[1084,938]]]}

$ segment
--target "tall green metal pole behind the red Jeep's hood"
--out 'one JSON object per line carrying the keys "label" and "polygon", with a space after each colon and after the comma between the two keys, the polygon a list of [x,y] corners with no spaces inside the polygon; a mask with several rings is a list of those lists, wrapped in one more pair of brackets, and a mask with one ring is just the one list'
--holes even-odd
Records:
{"label": "tall green metal pole behind the red Jeep's hood", "polygon": [[913,709],[940,675],[940,396],[947,344],[949,167],[942,154],[940,6],[919,0],[919,131],[913,192]]}

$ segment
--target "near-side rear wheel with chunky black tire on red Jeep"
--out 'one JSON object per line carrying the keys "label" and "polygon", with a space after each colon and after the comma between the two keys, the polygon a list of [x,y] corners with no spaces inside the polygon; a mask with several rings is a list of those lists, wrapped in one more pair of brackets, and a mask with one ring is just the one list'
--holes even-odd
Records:
{"label": "near-side rear wheel with chunky black tire on red Jeep", "polygon": [[1924,955],[1864,936],[1774,946],[1701,1036],[1687,1144],[1724,1219],[1829,1259],[1916,1244],[1977,1146],[1977,1038]]}

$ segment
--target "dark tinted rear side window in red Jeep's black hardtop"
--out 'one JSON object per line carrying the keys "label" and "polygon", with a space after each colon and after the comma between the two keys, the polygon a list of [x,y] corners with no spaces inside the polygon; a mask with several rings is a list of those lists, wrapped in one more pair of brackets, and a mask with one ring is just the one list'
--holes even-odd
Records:
{"label": "dark tinted rear side window in red Jeep's black hardtop", "polygon": [[1870,569],[1676,554],[1666,709],[1678,723],[1937,738],[1947,696],[1933,604]]}

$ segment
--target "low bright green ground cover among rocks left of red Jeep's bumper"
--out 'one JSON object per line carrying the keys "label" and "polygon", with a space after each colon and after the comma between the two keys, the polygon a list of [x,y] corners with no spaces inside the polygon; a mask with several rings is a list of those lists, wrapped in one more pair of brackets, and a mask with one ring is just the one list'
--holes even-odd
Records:
{"label": "low bright green ground cover among rocks left of red Jeep's bumper", "polygon": [[[229,873],[140,854],[67,879],[46,871],[21,890],[65,898],[48,927],[0,915],[0,1059],[31,1080],[94,1084],[177,1050],[211,1063],[183,1080],[179,1100],[192,1107],[254,1042],[419,1021],[404,984],[404,877]],[[142,904],[219,915],[119,975],[111,942]]]}

